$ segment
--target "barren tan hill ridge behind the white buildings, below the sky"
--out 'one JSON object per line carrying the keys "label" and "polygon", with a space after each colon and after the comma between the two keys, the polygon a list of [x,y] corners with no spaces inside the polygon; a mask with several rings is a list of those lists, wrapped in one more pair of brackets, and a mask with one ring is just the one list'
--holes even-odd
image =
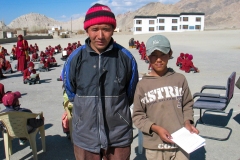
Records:
{"label": "barren tan hill ridge behind the white buildings, below the sky", "polygon": [[[132,11],[116,16],[117,27],[128,31],[133,27],[133,18],[138,15],[180,14],[181,12],[205,13],[205,29],[240,28],[239,0],[181,0],[175,4],[151,2]],[[39,13],[30,13],[14,19],[9,25],[0,23],[0,29],[24,28],[29,30],[50,29],[51,26],[61,25],[65,30],[77,31],[83,29],[84,17],[60,22]],[[71,25],[72,23],[72,25]]]}

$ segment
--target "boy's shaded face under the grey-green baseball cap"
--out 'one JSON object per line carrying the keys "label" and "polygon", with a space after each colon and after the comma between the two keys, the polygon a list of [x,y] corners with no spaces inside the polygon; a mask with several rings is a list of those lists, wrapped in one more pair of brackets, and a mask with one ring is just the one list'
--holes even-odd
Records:
{"label": "boy's shaded face under the grey-green baseball cap", "polygon": [[158,76],[163,76],[167,72],[167,64],[171,55],[171,51],[169,54],[164,54],[158,50],[152,52],[152,54],[149,56],[152,73]]}

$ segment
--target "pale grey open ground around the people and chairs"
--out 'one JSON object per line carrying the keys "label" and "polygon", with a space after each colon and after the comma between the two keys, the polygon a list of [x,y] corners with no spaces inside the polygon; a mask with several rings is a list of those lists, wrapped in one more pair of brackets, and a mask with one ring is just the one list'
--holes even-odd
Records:
{"label": "pale grey open ground around the people and chairs", "polygon": [[[192,94],[199,92],[203,85],[221,85],[226,86],[227,78],[235,71],[237,72],[236,80],[240,76],[240,30],[221,30],[221,31],[203,31],[203,32],[179,32],[179,33],[162,33],[167,36],[171,42],[173,50],[173,59],[169,61],[168,66],[176,72],[184,74],[188,80]],[[144,35],[121,35],[115,34],[114,40],[128,49],[130,38],[145,42],[154,34]],[[30,40],[29,44],[37,43],[40,51],[48,45],[55,46],[61,44],[63,48],[68,43],[80,41],[84,44],[86,35],[75,36],[65,39],[42,39]],[[3,44],[9,52],[15,43]],[[140,60],[140,55],[136,49],[129,49],[138,63],[138,70],[141,73],[148,72],[148,64]],[[193,55],[194,65],[200,70],[200,73],[184,73],[176,66],[176,59],[179,54],[190,53]],[[41,141],[37,138],[38,158],[41,160],[72,160],[74,158],[71,141],[66,138],[62,131],[61,117],[64,112],[62,102],[62,82],[57,81],[59,78],[64,61],[61,54],[57,54],[56,60],[59,67],[51,69],[49,72],[41,72],[41,84],[25,85],[22,82],[22,74],[15,72],[6,75],[7,78],[0,80],[5,85],[5,91],[20,91],[22,98],[20,103],[22,107],[29,108],[33,112],[43,111],[45,117],[45,132],[47,152],[41,151]],[[7,57],[9,59],[9,57]],[[16,64],[13,61],[12,67]],[[35,63],[36,66],[38,62]],[[15,71],[15,69],[14,69]],[[240,158],[240,90],[234,88],[234,96],[226,109],[225,116],[216,115],[214,120],[218,124],[224,124],[232,128],[233,132],[227,141],[216,141],[206,139],[206,146],[193,152],[190,157],[192,160],[219,160]],[[213,91],[212,91],[213,92]],[[224,94],[224,92],[221,92]],[[3,109],[3,105],[0,105]],[[199,117],[199,111],[194,110],[195,120]],[[209,116],[208,120],[213,121]],[[226,137],[227,132],[224,129],[205,127],[198,125],[197,128],[203,135],[212,135],[216,137]],[[134,127],[134,141],[132,143],[131,160],[144,160],[143,154],[138,154],[138,136],[137,129]],[[4,159],[4,143],[0,134],[0,159]],[[31,159],[32,153],[29,145],[19,146],[18,140],[13,140],[13,155],[11,159]]]}

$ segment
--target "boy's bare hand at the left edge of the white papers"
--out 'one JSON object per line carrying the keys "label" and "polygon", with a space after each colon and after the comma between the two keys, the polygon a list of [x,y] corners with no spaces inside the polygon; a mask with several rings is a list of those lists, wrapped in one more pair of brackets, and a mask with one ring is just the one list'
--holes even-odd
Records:
{"label": "boy's bare hand at the left edge of the white papers", "polygon": [[153,124],[151,126],[151,130],[154,131],[155,133],[158,134],[158,136],[161,138],[162,141],[166,142],[166,143],[174,143],[171,139],[172,136],[171,134],[164,128],[157,126],[155,124]]}

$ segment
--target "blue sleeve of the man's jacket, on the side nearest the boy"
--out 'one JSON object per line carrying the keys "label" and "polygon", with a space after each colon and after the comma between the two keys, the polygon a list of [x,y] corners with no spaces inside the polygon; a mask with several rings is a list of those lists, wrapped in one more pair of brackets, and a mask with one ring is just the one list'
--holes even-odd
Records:
{"label": "blue sleeve of the man's jacket, on the side nearest the boy", "polygon": [[131,74],[131,79],[127,88],[129,106],[133,104],[133,97],[134,97],[135,89],[138,83],[138,67],[134,57],[132,57],[131,59],[131,66],[132,66],[131,67],[132,74]]}

